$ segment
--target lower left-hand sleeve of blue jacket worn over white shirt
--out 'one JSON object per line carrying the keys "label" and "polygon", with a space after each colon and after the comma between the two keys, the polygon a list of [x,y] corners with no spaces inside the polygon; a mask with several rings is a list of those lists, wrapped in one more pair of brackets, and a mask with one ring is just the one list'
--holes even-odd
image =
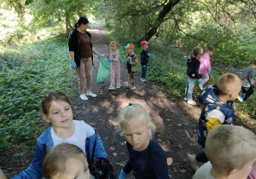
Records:
{"label": "lower left-hand sleeve of blue jacket worn over white shirt", "polygon": [[20,174],[14,176],[12,179],[42,178],[44,153],[39,142],[37,142],[34,156],[35,158],[33,159],[32,164],[29,165],[26,170],[21,171]]}

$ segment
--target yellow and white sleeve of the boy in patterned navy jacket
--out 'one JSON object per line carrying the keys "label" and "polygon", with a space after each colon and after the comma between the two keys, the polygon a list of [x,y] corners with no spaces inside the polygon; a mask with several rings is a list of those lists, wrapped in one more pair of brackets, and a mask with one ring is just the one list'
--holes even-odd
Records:
{"label": "yellow and white sleeve of the boy in patterned navy jacket", "polygon": [[214,109],[207,113],[207,132],[210,132],[213,127],[223,124],[224,119],[224,113],[218,109]]}

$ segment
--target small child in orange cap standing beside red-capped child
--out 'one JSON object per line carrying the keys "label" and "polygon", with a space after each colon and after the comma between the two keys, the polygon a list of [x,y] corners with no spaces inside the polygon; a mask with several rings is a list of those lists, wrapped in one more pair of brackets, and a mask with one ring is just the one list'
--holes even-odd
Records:
{"label": "small child in orange cap standing beside red-capped child", "polygon": [[128,86],[127,89],[129,90],[135,90],[136,86],[134,84],[134,73],[136,72],[136,67],[137,67],[137,55],[134,54],[133,49],[134,49],[134,44],[128,43],[125,46],[125,49],[127,49],[128,54],[126,55],[126,61],[125,63],[127,64],[127,70],[129,74],[129,79],[128,79]]}

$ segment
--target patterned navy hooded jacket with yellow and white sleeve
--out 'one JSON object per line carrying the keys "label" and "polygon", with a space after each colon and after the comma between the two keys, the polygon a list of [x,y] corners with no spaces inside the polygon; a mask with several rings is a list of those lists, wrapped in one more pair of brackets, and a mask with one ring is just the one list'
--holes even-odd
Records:
{"label": "patterned navy hooded jacket with yellow and white sleeve", "polygon": [[233,123],[234,107],[232,105],[234,101],[221,101],[217,93],[217,85],[209,85],[200,93],[199,100],[203,107],[198,122],[197,141],[203,142],[203,145],[207,139],[207,134],[213,127]]}

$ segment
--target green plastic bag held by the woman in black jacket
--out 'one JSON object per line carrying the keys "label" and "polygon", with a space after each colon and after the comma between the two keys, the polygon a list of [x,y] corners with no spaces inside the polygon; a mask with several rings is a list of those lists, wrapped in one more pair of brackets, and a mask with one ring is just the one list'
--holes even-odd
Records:
{"label": "green plastic bag held by the woman in black jacket", "polygon": [[108,64],[108,61],[105,61],[104,58],[101,57],[100,61],[101,63],[97,74],[97,82],[99,84],[104,84],[108,80],[110,74],[110,66]]}

